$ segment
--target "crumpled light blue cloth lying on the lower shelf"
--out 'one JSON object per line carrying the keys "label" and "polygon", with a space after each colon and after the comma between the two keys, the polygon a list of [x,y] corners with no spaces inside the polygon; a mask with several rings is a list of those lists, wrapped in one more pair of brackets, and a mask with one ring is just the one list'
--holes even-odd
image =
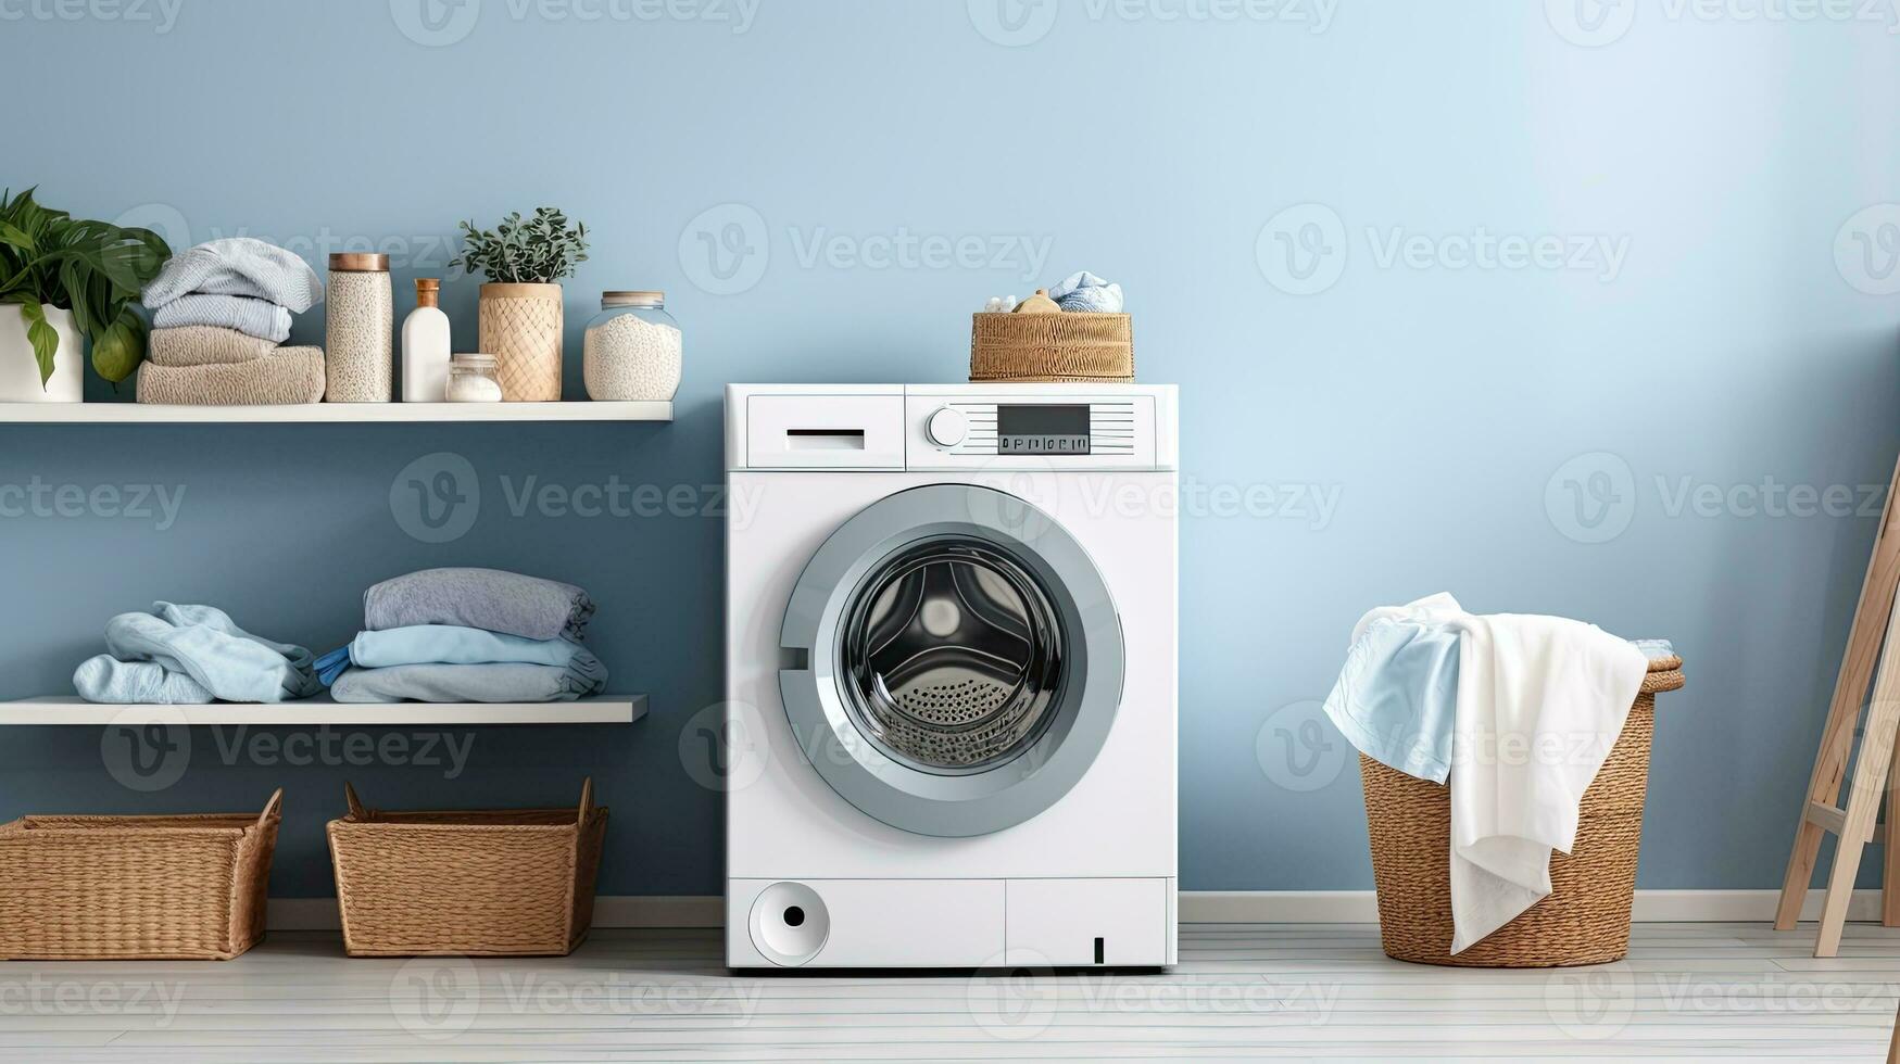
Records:
{"label": "crumpled light blue cloth lying on the lower shelf", "polygon": [[314,667],[302,646],[251,635],[222,610],[154,602],[106,621],[106,654],[80,663],[72,686],[101,703],[289,701],[323,690]]}

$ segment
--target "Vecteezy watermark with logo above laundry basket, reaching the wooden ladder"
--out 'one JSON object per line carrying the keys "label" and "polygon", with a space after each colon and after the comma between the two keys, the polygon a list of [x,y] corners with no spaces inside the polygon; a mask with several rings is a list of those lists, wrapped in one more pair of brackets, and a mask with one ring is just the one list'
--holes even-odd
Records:
{"label": "Vecteezy watermark with logo above laundry basket, reaching the wooden ladder", "polygon": [[[1655,475],[1655,509],[1678,519],[1877,519],[1887,484],[1803,484],[1773,475],[1759,481],[1716,483],[1691,475]],[[1621,454],[1579,454],[1545,481],[1550,526],[1577,543],[1607,543],[1628,530],[1644,500],[1636,473]]]}

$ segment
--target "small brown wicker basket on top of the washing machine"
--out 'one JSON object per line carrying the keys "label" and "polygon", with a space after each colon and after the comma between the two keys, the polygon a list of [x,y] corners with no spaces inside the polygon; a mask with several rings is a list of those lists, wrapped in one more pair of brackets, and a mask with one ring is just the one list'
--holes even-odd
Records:
{"label": "small brown wicker basket on top of the washing machine", "polygon": [[1134,380],[1127,314],[977,314],[969,331],[973,382]]}

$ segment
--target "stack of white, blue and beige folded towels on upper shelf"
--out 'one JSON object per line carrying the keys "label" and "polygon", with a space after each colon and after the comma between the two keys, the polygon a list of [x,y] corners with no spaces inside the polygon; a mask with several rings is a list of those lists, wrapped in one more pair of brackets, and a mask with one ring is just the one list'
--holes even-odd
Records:
{"label": "stack of white, blue and beige folded towels on upper shelf", "polygon": [[144,287],[152,312],[141,403],[253,407],[319,403],[323,348],[283,348],[291,314],[323,298],[302,258],[253,238],[175,256]]}

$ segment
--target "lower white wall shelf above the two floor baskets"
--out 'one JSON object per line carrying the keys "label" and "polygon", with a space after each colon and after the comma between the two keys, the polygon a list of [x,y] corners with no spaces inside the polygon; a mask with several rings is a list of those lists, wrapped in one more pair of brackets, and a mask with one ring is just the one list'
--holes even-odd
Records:
{"label": "lower white wall shelf above the two floor baskets", "polygon": [[646,716],[646,695],[598,695],[545,703],[338,703],[329,695],[256,703],[110,705],[76,695],[0,701],[6,724],[251,724],[251,726],[456,726],[456,724],[633,724]]}

